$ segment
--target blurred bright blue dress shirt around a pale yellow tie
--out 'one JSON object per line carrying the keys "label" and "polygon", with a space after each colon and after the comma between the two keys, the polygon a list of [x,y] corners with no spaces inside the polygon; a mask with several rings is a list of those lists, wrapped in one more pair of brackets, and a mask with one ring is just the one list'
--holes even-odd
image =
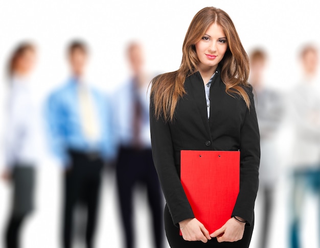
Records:
{"label": "blurred bright blue dress shirt around a pale yellow tie", "polygon": [[49,96],[45,105],[51,150],[64,166],[70,162],[67,153],[69,149],[85,153],[99,152],[105,160],[113,159],[116,155],[110,105],[107,97],[92,87],[89,92],[101,127],[100,137],[92,141],[84,135],[79,107],[79,84],[75,78],[71,78]]}

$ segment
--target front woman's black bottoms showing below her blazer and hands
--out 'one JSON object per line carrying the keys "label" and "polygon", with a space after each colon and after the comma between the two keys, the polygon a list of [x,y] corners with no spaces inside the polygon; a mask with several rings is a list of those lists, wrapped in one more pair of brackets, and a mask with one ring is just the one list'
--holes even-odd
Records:
{"label": "front woman's black bottoms showing below her blazer and hands", "polygon": [[[254,222],[254,221],[253,221]],[[202,241],[186,241],[179,234],[179,228],[173,225],[173,221],[168,209],[165,207],[165,229],[166,235],[171,248],[248,248],[252,233],[254,230],[254,223],[251,227],[245,227],[243,238],[237,242],[221,242],[219,243],[216,238],[212,238],[207,243]]]}

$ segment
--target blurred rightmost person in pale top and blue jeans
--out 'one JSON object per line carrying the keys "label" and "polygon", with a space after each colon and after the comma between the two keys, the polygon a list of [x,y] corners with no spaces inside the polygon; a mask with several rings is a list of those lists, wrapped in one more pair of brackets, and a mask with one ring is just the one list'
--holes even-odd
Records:
{"label": "blurred rightmost person in pale top and blue jeans", "polygon": [[303,77],[290,92],[292,195],[290,202],[290,247],[301,247],[301,224],[306,194],[320,196],[320,85],[317,47],[305,45],[299,59]]}

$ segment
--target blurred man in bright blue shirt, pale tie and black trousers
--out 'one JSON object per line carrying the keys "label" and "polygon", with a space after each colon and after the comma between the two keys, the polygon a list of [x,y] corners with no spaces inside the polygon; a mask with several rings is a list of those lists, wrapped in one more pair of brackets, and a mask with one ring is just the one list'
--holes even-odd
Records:
{"label": "blurred man in bright blue shirt, pale tie and black trousers", "polygon": [[64,168],[63,247],[72,247],[73,214],[87,209],[86,247],[94,247],[101,171],[115,156],[111,109],[107,98],[84,78],[88,49],[84,42],[68,47],[71,77],[51,93],[46,106],[50,143]]}

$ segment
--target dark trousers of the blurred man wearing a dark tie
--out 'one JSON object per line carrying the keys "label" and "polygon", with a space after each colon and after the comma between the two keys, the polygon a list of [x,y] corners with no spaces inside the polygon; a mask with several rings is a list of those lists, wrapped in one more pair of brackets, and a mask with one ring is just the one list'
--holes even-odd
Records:
{"label": "dark trousers of the blurred man wearing a dark tie", "polygon": [[117,186],[126,248],[134,247],[132,195],[135,184],[147,188],[152,213],[154,247],[163,246],[163,196],[152,159],[151,149],[121,148],[117,161]]}

